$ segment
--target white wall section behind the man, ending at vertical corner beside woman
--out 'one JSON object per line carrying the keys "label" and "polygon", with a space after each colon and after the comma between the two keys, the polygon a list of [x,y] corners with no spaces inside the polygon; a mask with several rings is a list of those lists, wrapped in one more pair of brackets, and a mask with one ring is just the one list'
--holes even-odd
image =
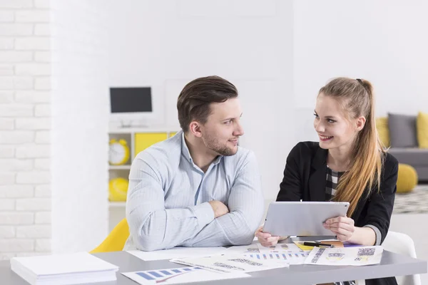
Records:
{"label": "white wall section behind the man, ending at vertical corner beside woman", "polygon": [[267,199],[274,199],[295,144],[291,1],[112,1],[111,86],[153,86],[158,124],[178,127],[185,83],[208,75],[240,91],[245,135]]}

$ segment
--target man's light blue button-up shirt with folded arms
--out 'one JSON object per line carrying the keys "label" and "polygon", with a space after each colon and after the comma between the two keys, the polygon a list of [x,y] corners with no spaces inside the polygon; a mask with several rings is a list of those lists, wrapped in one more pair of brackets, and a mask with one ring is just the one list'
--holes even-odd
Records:
{"label": "man's light blue button-up shirt with folded arms", "polygon": [[[211,200],[229,213],[215,218]],[[193,163],[183,131],[140,152],[129,174],[125,249],[250,244],[264,209],[255,155],[238,147],[204,173]]]}

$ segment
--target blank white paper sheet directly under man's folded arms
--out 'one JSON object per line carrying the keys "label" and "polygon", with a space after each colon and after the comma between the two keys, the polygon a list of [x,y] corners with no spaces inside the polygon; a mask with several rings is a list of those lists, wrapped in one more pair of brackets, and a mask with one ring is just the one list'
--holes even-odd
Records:
{"label": "blank white paper sheet directly under man's folded arms", "polygon": [[174,247],[153,252],[143,252],[142,250],[130,250],[128,252],[144,261],[151,261],[181,257],[209,257],[211,255],[225,254],[227,251],[225,247]]}

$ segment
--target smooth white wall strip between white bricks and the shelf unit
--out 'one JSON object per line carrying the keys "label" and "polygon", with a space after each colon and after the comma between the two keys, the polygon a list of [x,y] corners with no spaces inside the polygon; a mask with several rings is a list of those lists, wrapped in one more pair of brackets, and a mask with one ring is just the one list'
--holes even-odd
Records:
{"label": "smooth white wall strip between white bricks and the shelf unit", "polygon": [[103,1],[52,1],[52,252],[108,233],[108,85]]}

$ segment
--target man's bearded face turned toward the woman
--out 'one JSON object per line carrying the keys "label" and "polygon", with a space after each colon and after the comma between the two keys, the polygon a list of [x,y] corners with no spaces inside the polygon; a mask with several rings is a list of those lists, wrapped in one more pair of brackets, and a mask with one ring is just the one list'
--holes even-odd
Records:
{"label": "man's bearded face turned toward the woman", "polygon": [[243,112],[238,98],[211,103],[210,110],[207,122],[200,127],[205,147],[218,155],[235,155],[238,151],[238,138],[244,134],[240,124]]}

